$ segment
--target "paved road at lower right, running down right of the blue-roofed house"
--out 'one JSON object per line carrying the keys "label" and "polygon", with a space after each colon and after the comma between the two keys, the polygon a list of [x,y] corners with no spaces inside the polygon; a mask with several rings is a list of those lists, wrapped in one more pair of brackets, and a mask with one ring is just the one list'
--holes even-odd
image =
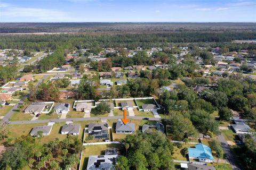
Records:
{"label": "paved road at lower right, running down right of the blue-roofed house", "polygon": [[222,134],[218,135],[218,140],[220,141],[223,150],[224,150],[225,153],[227,154],[227,159],[228,159],[228,162],[230,163],[232,169],[234,169],[234,170],[241,170],[241,169],[236,165],[235,156],[234,156],[233,152],[231,151],[230,146],[228,146],[228,142],[226,141],[226,139],[223,137]]}

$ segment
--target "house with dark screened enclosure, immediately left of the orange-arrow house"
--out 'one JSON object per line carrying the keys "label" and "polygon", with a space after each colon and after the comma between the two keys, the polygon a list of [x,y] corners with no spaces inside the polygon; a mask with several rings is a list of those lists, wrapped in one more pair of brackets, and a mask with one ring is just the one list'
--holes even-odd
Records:
{"label": "house with dark screened enclosure, immediately left of the orange-arrow house", "polygon": [[93,135],[94,139],[108,139],[108,124],[107,123],[90,123],[88,133]]}

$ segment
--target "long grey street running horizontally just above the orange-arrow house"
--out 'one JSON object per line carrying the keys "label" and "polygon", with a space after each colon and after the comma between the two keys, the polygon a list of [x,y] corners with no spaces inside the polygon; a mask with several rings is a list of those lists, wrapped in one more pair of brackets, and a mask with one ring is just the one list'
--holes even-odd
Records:
{"label": "long grey street running horizontally just above the orange-arrow house", "polygon": [[[34,124],[34,123],[49,123],[49,122],[67,122],[67,121],[95,121],[95,120],[117,120],[123,116],[107,116],[107,117],[84,117],[84,118],[66,118],[66,119],[52,119],[52,120],[36,120],[36,121],[8,121],[7,124]],[[145,117],[127,116],[129,119],[142,120]],[[161,118],[149,117],[150,121],[159,121]]]}

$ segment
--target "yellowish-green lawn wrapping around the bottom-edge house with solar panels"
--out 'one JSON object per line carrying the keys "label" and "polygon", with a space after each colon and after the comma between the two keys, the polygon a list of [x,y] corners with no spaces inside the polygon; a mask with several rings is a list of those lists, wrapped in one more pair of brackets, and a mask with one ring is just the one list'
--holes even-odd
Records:
{"label": "yellowish-green lawn wrapping around the bottom-edge house with solar panels", "polygon": [[118,148],[121,152],[124,149],[121,144],[86,146],[82,153],[80,169],[86,169],[90,155],[104,155],[107,148]]}

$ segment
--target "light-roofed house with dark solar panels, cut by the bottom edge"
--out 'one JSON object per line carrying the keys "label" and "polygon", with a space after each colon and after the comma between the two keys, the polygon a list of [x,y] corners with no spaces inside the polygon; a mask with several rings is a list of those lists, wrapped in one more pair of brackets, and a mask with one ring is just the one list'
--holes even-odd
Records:
{"label": "light-roofed house with dark solar panels, cut by the bottom edge", "polygon": [[91,155],[86,170],[111,170],[116,164],[117,155]]}

